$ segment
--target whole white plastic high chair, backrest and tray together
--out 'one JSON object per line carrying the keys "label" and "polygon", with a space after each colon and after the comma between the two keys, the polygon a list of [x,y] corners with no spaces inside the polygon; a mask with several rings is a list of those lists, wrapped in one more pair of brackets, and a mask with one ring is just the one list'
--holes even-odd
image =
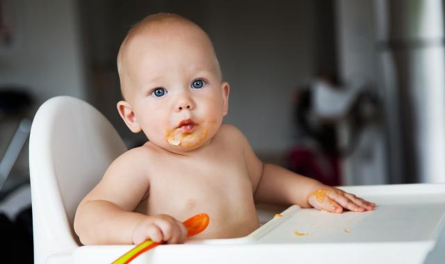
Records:
{"label": "whole white plastic high chair, backrest and tray together", "polygon": [[[55,97],[40,107],[29,149],[35,263],[111,263],[133,247],[80,246],[72,229],[81,199],[125,150],[113,126],[86,102]],[[280,211],[261,207],[266,224],[244,238],[161,245],[132,263],[443,262],[445,184],[341,188],[378,208],[337,215],[291,206],[268,221]]]}

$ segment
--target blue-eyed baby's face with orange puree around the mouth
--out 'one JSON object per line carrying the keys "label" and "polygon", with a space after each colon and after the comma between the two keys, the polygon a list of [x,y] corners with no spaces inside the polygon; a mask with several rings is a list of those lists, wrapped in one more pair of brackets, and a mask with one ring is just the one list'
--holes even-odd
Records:
{"label": "blue-eyed baby's face with orange puree around the mouth", "polygon": [[127,102],[147,138],[175,152],[207,144],[229,96],[207,36],[191,26],[141,33],[126,56]]}

